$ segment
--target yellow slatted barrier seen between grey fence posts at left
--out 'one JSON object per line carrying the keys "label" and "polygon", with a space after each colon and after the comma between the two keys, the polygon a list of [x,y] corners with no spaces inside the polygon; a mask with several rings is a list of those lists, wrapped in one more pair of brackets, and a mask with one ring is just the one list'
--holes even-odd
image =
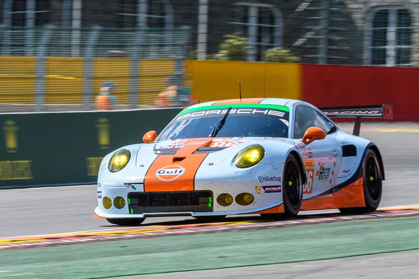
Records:
{"label": "yellow slatted barrier seen between grey fence posts at left", "polygon": [[[83,57],[45,58],[45,103],[82,104],[86,80]],[[112,81],[119,104],[130,103],[131,61],[126,58],[93,58],[91,101],[103,82]],[[137,104],[153,105],[167,87],[175,69],[174,60],[139,60]],[[0,56],[0,103],[35,102],[36,57]]]}

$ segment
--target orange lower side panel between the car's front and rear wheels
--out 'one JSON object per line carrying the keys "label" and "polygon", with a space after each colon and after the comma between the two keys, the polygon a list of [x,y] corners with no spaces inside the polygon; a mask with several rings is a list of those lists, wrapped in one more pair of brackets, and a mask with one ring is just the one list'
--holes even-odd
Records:
{"label": "orange lower side panel between the car's front and rear wheels", "polygon": [[303,200],[301,210],[363,207],[365,206],[363,185],[364,179],[360,178],[333,194]]}

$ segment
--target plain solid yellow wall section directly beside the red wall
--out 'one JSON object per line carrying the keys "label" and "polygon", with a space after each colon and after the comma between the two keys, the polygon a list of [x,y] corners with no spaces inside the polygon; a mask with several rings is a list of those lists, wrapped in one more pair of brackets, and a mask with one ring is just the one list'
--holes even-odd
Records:
{"label": "plain solid yellow wall section directly beside the red wall", "polygon": [[301,66],[294,63],[187,60],[188,80],[200,102],[239,97],[299,99],[301,96]]}

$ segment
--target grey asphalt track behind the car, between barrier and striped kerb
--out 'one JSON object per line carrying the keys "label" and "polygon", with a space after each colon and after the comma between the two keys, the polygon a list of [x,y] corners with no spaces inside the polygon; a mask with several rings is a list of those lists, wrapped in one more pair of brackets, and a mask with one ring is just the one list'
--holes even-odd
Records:
{"label": "grey asphalt track behind the car, between barrier and striped kerb", "polygon": [[[348,123],[340,126],[344,131],[352,128]],[[419,123],[364,123],[361,129],[361,136],[375,142],[384,158],[380,207],[419,204]],[[0,196],[0,238],[116,227],[92,218],[95,185],[0,190]],[[170,217],[149,218],[143,224],[184,220],[195,222],[191,217]]]}

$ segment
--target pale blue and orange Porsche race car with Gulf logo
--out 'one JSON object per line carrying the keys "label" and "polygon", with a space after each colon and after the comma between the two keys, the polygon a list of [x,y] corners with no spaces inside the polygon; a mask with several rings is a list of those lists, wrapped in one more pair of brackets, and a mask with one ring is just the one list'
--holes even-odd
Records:
{"label": "pale blue and orange Porsche race car with Gulf logo", "polygon": [[371,212],[384,166],[371,141],[328,116],[392,117],[390,105],[317,109],[290,99],[236,99],[189,106],[145,143],[105,156],[95,217],[136,225],[147,217],[224,217],[300,210]]}

